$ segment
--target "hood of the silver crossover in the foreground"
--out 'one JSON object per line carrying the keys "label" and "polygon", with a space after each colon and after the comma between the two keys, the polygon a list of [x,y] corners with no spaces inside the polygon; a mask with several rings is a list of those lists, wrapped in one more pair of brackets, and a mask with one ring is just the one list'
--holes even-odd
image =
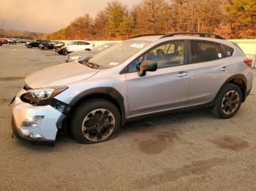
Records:
{"label": "hood of the silver crossover in the foreground", "polygon": [[68,85],[96,74],[99,69],[91,69],[78,62],[63,63],[47,69],[34,71],[25,77],[25,82],[32,88]]}

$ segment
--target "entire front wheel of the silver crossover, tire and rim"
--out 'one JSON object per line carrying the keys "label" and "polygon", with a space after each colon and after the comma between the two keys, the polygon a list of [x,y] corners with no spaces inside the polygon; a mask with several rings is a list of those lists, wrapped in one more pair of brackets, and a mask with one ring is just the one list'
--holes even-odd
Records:
{"label": "entire front wheel of the silver crossover, tire and rim", "polygon": [[110,101],[91,99],[81,104],[70,121],[72,136],[78,143],[108,141],[121,127],[119,110]]}

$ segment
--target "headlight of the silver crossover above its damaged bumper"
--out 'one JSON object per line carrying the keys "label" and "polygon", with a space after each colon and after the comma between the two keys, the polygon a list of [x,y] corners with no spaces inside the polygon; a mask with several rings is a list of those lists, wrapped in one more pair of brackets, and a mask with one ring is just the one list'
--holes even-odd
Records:
{"label": "headlight of the silver crossover above its damaged bumper", "polygon": [[29,102],[31,104],[47,104],[46,102],[50,98],[54,98],[59,93],[67,90],[67,86],[61,87],[47,87],[28,90],[27,93],[22,95],[23,101]]}

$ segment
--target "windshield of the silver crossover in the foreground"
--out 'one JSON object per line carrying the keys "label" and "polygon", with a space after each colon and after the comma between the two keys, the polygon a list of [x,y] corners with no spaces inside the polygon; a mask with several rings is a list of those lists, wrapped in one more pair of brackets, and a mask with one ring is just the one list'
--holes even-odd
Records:
{"label": "windshield of the silver crossover in the foreground", "polygon": [[150,44],[149,41],[127,40],[120,42],[113,47],[99,52],[91,58],[88,63],[96,64],[99,68],[112,68],[126,61],[132,55]]}

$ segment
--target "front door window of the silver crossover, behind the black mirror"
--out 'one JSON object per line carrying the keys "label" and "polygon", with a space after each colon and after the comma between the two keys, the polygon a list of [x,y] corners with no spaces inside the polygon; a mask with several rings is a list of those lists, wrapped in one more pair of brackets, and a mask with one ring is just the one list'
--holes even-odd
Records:
{"label": "front door window of the silver crossover, behind the black mirror", "polygon": [[128,66],[128,71],[137,71],[138,65],[143,61],[156,61],[157,68],[167,68],[184,64],[184,42],[168,42],[147,52]]}

